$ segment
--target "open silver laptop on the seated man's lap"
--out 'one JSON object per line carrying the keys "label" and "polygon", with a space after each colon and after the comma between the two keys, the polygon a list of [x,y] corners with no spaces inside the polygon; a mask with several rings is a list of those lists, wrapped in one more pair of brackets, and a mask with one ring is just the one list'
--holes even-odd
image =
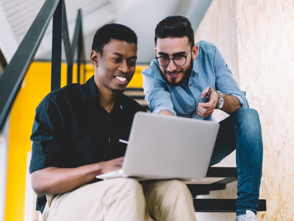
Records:
{"label": "open silver laptop on the seated man's lap", "polygon": [[99,179],[135,177],[198,180],[206,176],[219,124],[137,112],[122,169]]}

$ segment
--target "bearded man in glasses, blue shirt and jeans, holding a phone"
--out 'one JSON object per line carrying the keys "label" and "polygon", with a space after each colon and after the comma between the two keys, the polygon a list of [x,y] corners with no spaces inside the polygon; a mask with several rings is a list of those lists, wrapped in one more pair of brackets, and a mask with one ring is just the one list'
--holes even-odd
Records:
{"label": "bearded man in glasses, blue shirt and jeans, holding a phone", "polygon": [[[236,221],[258,220],[263,142],[257,111],[249,108],[245,91],[217,47],[205,41],[194,44],[194,32],[185,17],[170,16],[159,22],[155,45],[156,59],[142,71],[151,112],[203,120],[213,120],[214,109],[230,114],[220,122],[210,165],[236,149]],[[211,94],[204,103],[209,88]]]}

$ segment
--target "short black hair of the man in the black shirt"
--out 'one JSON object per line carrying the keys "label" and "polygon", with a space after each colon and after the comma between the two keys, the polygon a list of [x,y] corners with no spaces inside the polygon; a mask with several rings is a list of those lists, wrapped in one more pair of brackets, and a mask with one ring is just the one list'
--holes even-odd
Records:
{"label": "short black hair of the man in the black shirt", "polygon": [[111,39],[121,40],[128,43],[135,43],[138,46],[136,33],[122,24],[105,24],[97,30],[93,37],[92,50],[102,55],[103,47],[110,42]]}

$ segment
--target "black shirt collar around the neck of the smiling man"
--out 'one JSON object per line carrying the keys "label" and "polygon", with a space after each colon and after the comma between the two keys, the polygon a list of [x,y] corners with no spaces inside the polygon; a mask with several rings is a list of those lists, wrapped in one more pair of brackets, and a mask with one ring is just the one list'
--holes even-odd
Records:
{"label": "black shirt collar around the neck of the smiling man", "polygon": [[[97,100],[98,103],[100,104],[100,99],[99,99],[99,95],[98,95],[97,90],[98,89],[97,89],[96,83],[94,81],[94,76],[92,76],[86,82],[86,88],[85,88],[85,93],[84,93],[83,99],[84,100]],[[131,108],[133,108],[131,106],[131,104],[128,102],[128,100],[126,99],[126,96],[123,95],[123,93],[119,92],[116,97],[114,108],[119,107],[119,109],[124,110],[126,106],[130,106]]]}

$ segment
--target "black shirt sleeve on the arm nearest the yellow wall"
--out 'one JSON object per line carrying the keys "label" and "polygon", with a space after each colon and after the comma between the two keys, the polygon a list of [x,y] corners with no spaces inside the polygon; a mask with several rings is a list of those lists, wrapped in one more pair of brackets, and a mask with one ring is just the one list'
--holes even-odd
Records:
{"label": "black shirt sleeve on the arm nearest the yellow wall", "polygon": [[58,105],[47,95],[36,109],[31,141],[29,172],[50,166],[61,167],[65,137],[64,118]]}

